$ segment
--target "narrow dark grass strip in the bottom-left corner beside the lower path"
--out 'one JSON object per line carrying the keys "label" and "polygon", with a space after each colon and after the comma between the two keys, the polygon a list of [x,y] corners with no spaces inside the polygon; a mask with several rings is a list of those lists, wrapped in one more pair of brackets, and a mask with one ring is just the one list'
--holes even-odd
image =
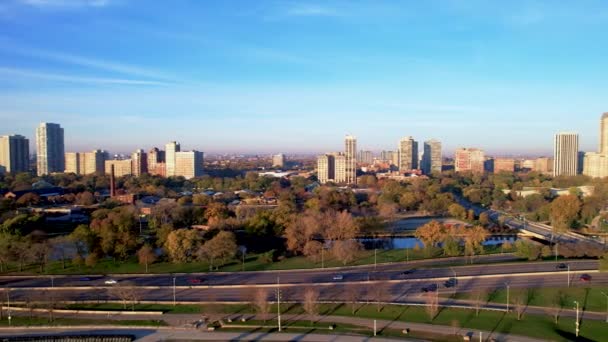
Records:
{"label": "narrow dark grass strip in the bottom-left corner beside the lower path", "polygon": [[[73,319],[73,318],[56,318],[52,321],[48,317],[36,316],[13,316],[11,318],[11,326],[70,326],[70,325],[120,325],[120,326],[138,326],[138,327],[162,327],[167,326],[167,323],[162,320],[117,320],[111,321],[107,319]],[[0,327],[8,327],[9,322],[6,316],[0,320]]]}

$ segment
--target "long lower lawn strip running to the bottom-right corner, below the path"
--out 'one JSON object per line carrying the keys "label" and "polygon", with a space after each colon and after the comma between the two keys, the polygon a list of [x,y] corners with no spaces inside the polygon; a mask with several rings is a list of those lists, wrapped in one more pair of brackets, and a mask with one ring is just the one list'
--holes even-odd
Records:
{"label": "long lower lawn strip running to the bottom-right corner, below the path", "polygon": [[[596,298],[595,290],[593,293],[593,297],[590,298]],[[605,304],[605,301],[603,303]],[[79,306],[79,308],[107,310],[110,308],[121,309],[122,307],[117,304],[103,304]],[[167,313],[221,313],[225,315],[251,314],[255,312],[249,305],[178,305],[176,307],[171,305],[140,305],[136,306],[136,309],[160,310]],[[324,316],[345,316],[444,326],[457,324],[459,327],[471,330],[495,331],[554,341],[572,340],[574,333],[573,318],[560,318],[558,324],[555,324],[553,317],[549,314],[524,314],[522,320],[517,320],[514,312],[506,314],[504,312],[481,311],[479,316],[476,316],[474,310],[442,309],[434,319],[430,319],[425,309],[420,307],[382,306],[380,309],[378,311],[378,307],[375,304],[360,304],[356,305],[355,313],[353,314],[351,305],[324,304],[320,305],[319,313]],[[301,315],[304,313],[302,307],[298,304],[281,305],[281,311],[283,314]],[[271,305],[270,312],[276,312],[276,306]],[[299,324],[306,325],[310,323],[305,320]],[[268,323],[268,325],[271,325],[271,323]],[[591,341],[602,341],[605,339],[606,331],[608,331],[608,323],[603,321],[583,320],[581,324],[581,337]],[[427,336],[427,339],[433,340],[434,338]]]}

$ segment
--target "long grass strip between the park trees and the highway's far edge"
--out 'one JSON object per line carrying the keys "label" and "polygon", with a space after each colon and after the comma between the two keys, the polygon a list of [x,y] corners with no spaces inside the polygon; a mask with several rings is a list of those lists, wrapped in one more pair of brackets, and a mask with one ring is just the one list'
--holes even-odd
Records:
{"label": "long grass strip between the park trees and the highway's far edge", "polygon": [[[500,253],[500,248],[486,248],[486,254]],[[405,262],[412,260],[422,260],[426,258],[441,257],[440,252],[435,252],[432,255],[427,255],[423,250],[415,249],[394,249],[394,250],[378,250],[374,255],[374,250],[364,250],[359,253],[358,257],[351,263],[346,265],[336,260],[329,252],[325,253],[323,262],[320,260],[313,261],[303,256],[295,256],[284,258],[274,262],[264,262],[265,258],[262,255],[250,255],[245,259],[245,264],[237,261],[230,262],[214,271],[236,272],[242,271],[268,271],[268,270],[291,270],[291,269],[314,269],[322,267],[341,267],[341,266],[357,266],[357,265],[372,265],[374,262],[393,263]],[[464,263],[463,263],[464,264]],[[71,262],[66,263],[63,268],[61,262],[50,263],[43,273],[40,273],[38,266],[27,266],[22,272],[18,271],[17,265],[8,265],[8,271],[2,274],[120,274],[120,273],[145,273],[145,267],[137,263],[135,258],[130,258],[125,261],[116,261],[111,259],[100,260],[95,266],[88,267],[82,265],[73,265]],[[149,273],[196,273],[209,272],[209,265],[205,262],[191,262],[185,264],[174,264],[170,262],[157,262],[149,265]]]}

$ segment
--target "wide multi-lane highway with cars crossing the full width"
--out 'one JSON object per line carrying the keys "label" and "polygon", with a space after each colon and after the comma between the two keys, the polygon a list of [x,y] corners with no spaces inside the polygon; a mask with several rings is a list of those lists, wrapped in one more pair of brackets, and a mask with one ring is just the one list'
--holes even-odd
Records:
{"label": "wide multi-lane highway with cars crossing the full width", "polygon": [[[508,260],[512,256],[493,256]],[[487,261],[487,260],[486,260]],[[444,263],[447,261],[443,261]],[[453,261],[452,261],[453,262]],[[441,261],[411,263],[406,265],[379,265],[377,268],[356,267],[332,270],[283,271],[283,272],[235,272],[200,273],[190,275],[116,275],[116,276],[62,276],[62,277],[0,277],[3,288],[11,289],[13,300],[25,300],[28,296],[60,293],[64,300],[117,299],[112,288],[129,284],[137,288],[137,297],[143,301],[171,302],[243,302],[252,298],[258,287],[274,293],[277,280],[285,300],[299,300],[308,287],[319,289],[322,300],[347,300],[353,291],[360,299],[377,297],[375,288],[382,289],[385,301],[408,301],[420,298],[423,288],[437,286],[440,292],[464,292],[480,289],[540,288],[608,285],[608,274],[596,273],[597,261],[569,262],[567,268],[560,263],[502,263],[471,266],[441,266]],[[404,273],[405,272],[405,273]],[[588,273],[590,282],[580,280]],[[334,279],[341,275],[340,280]],[[455,278],[454,286],[446,286],[446,280]],[[117,285],[105,284],[108,279]],[[174,286],[175,279],[175,286]],[[354,290],[353,290],[354,289]]]}

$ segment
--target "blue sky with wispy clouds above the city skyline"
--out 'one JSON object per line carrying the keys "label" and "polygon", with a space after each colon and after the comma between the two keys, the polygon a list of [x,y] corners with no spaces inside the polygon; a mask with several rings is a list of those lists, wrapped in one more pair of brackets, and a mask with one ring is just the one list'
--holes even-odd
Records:
{"label": "blue sky with wispy clouds above the city skyline", "polygon": [[358,137],[446,154],[596,150],[608,111],[605,1],[0,2],[0,134],[66,149],[178,140],[205,152],[325,152]]}

